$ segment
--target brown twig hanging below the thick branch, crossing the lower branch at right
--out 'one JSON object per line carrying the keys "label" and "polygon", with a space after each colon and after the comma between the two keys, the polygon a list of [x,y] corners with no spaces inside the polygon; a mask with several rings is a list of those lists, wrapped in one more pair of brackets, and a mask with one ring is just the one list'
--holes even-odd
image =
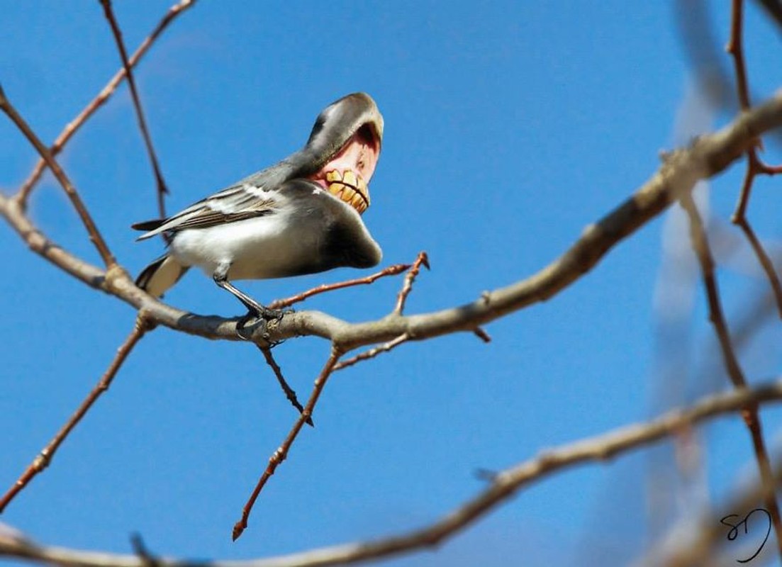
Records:
{"label": "brown twig hanging below the thick branch, crossing the lower branch at right", "polygon": [[[698,213],[698,209],[689,193],[682,196],[680,202],[683,209],[687,212],[687,217],[690,219],[692,247],[698,257],[699,264],[701,264],[701,277],[703,278],[703,285],[706,289],[706,296],[708,299],[708,318],[712,321],[712,325],[714,325],[714,331],[716,332],[719,341],[719,348],[723,354],[723,362],[725,363],[725,368],[730,377],[730,381],[733,382],[735,389],[743,391],[747,389],[747,381],[744,379],[744,372],[741,371],[741,365],[734,352],[733,343],[730,339],[730,332],[728,331],[725,315],[723,314],[722,302],[719,298],[719,289],[715,275],[714,259],[712,257],[712,251],[708,246],[708,238],[703,226],[703,221],[701,220],[701,215]],[[769,463],[766,442],[763,439],[762,423],[758,414],[757,404],[744,407],[741,414],[744,418],[744,423],[749,429],[750,436],[752,436],[752,446],[755,449],[755,459],[758,462],[760,479],[762,480],[763,486],[766,488],[764,496],[766,508],[771,515],[774,531],[777,535],[777,547],[780,556],[782,556],[782,520],[780,520],[780,509],[774,491],[773,472]]]}

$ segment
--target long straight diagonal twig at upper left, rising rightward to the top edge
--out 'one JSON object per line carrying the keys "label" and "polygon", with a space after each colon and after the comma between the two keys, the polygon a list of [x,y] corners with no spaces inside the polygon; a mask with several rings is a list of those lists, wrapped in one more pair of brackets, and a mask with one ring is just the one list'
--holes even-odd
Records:
{"label": "long straight diagonal twig at upper left, rising rightward to the top edge", "polygon": [[[180,2],[177,2],[171,6],[166,15],[163,16],[163,19],[160,20],[160,23],[158,23],[155,29],[152,30],[152,33],[149,34],[149,36],[144,41],[142,41],[142,44],[138,46],[135,53],[131,56],[131,59],[128,60],[130,66],[133,67],[139,61],[141,61],[142,57],[147,51],[149,51],[149,48],[152,47],[156,39],[160,36],[160,34],[163,33],[163,31],[165,31],[168,25],[174,21],[174,19],[179,14],[184,13],[186,9],[194,5],[195,2],[196,0],[180,0]],[[84,107],[81,113],[79,113],[79,115],[75,117],[74,120],[71,120],[66,125],[63,131],[61,131],[57,136],[55,142],[52,144],[52,147],[49,148],[49,152],[52,153],[52,156],[56,156],[62,151],[63,147],[65,147],[71,136],[73,136],[89,119],[89,117],[95,113],[95,110],[103,106],[103,104],[111,97],[111,95],[114,94],[114,92],[117,90],[117,86],[119,86],[124,78],[125,69],[122,68],[117,71],[117,74],[115,74],[108,83],[106,83],[106,86],[102,88],[101,92],[99,92],[95,99],[92,99],[90,103]],[[41,179],[41,175],[44,173],[45,169],[46,161],[43,159],[38,160],[38,163],[35,164],[30,177],[27,178],[27,180],[22,184],[19,192],[16,194],[16,199],[19,200],[19,203],[22,207],[26,206],[27,199],[30,197],[30,192],[32,192],[35,184],[38,183],[38,181]]]}

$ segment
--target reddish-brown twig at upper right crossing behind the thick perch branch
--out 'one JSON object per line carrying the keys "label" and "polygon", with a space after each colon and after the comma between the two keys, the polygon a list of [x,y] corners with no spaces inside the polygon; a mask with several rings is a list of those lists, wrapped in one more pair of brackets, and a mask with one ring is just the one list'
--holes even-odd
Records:
{"label": "reddish-brown twig at upper right crossing behind the thick perch branch", "polygon": [[[734,61],[739,106],[742,111],[747,111],[750,109],[751,102],[749,98],[747,65],[744,61],[744,0],[732,0],[731,2],[730,41],[728,41],[726,49]],[[762,147],[762,142],[758,138],[757,142],[750,145],[747,149],[747,170],[744,173],[744,181],[741,184],[741,192],[739,193],[736,210],[734,210],[731,221],[741,228],[750,246],[752,246],[755,256],[758,257],[758,261],[766,273],[766,278],[768,278],[773,290],[774,298],[777,300],[777,312],[780,318],[782,318],[782,283],[780,283],[780,278],[768,253],[766,253],[759,239],[755,236],[755,231],[752,230],[746,215],[755,177],[759,174],[773,175],[782,171],[782,167],[771,167],[760,160],[758,156],[760,147]]]}

